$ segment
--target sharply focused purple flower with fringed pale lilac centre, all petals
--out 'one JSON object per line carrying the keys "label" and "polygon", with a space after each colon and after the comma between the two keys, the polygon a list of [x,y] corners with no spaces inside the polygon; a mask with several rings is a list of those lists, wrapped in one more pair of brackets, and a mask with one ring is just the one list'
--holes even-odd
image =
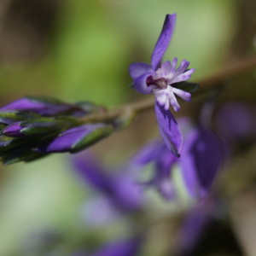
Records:
{"label": "sharply focused purple flower with fringed pale lilac centre, all petals", "polygon": [[171,41],[175,22],[176,14],[166,15],[160,37],[154,47],[151,65],[135,62],[130,65],[129,71],[135,90],[143,94],[154,94],[160,133],[164,137],[167,147],[173,154],[179,156],[182,134],[169,108],[172,105],[176,112],[180,110],[175,95],[180,96],[187,102],[191,101],[191,94],[189,91],[185,91],[182,82],[190,79],[195,69],[188,69],[189,61],[186,60],[183,60],[180,66],[177,67],[177,58],[173,59],[172,62],[166,61],[160,64]]}

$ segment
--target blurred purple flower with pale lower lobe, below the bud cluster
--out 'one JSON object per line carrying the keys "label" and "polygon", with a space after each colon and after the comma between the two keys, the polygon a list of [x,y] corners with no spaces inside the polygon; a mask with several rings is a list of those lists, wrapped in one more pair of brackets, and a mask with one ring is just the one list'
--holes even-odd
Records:
{"label": "blurred purple flower with pale lower lobe, below the bud cluster", "polygon": [[85,215],[90,218],[90,224],[108,222],[126,212],[139,211],[143,206],[143,187],[137,183],[130,166],[109,173],[87,152],[77,154],[73,165],[83,182],[100,192],[96,200],[87,204]]}

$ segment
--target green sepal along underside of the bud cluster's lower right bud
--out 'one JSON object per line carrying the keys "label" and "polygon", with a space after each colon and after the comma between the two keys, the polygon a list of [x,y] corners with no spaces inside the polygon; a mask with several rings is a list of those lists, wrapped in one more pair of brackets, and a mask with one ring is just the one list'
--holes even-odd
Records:
{"label": "green sepal along underside of the bud cluster's lower right bud", "polygon": [[77,153],[84,148],[90,147],[94,143],[102,140],[102,138],[108,137],[113,132],[113,130],[113,125],[106,125],[94,131],[91,131],[90,134],[83,137],[81,140],[79,140],[79,142],[73,144],[70,149],[70,153]]}

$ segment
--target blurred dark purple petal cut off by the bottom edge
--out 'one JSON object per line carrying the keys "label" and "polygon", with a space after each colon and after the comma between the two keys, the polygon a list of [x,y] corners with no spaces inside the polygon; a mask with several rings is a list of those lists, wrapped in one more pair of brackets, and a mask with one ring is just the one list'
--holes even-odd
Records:
{"label": "blurred dark purple petal cut off by the bottom edge", "polygon": [[100,248],[91,256],[136,256],[141,247],[141,239],[138,237],[125,241],[114,241]]}

